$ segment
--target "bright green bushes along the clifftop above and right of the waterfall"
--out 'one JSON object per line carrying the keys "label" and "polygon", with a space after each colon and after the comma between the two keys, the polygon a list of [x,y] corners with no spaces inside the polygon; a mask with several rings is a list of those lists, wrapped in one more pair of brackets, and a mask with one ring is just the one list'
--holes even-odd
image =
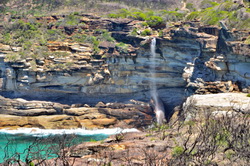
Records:
{"label": "bright green bushes along the clifftop above and right of the waterfall", "polygon": [[[132,18],[145,21],[143,25],[159,27],[167,22],[200,20],[208,25],[220,25],[223,21],[229,28],[249,29],[250,13],[249,7],[233,1],[217,3],[209,0],[201,2],[201,9],[194,9],[192,3],[188,3],[186,8],[175,11],[159,10],[127,10],[121,9],[117,13],[108,14],[111,18]],[[204,8],[202,8],[204,7]],[[164,26],[161,26],[164,27]]]}

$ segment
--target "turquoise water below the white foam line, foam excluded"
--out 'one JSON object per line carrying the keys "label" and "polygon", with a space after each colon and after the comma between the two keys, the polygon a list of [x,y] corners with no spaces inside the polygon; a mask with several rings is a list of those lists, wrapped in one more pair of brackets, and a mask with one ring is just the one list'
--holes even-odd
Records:
{"label": "turquoise water below the white foam line, foam excluded", "polygon": [[75,135],[54,134],[45,136],[24,133],[0,133],[0,163],[8,159],[49,159],[58,157],[60,149],[82,142],[103,140],[107,134]]}

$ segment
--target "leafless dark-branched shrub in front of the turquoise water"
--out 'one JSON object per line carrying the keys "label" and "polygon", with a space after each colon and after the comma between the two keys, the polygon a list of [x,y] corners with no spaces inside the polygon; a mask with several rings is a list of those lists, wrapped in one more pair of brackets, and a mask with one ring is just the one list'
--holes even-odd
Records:
{"label": "leafless dark-branched shrub in front of the turquoise water", "polygon": [[[17,150],[15,140],[6,137],[8,142],[4,148],[4,165],[30,165],[31,163],[39,166],[74,165],[75,160],[70,160],[68,155],[68,147],[71,147],[71,150],[74,147],[71,144],[74,138],[74,135],[67,134],[63,134],[60,137],[52,135],[46,138],[36,137],[26,149],[20,152]],[[49,158],[53,159],[48,160]]]}

